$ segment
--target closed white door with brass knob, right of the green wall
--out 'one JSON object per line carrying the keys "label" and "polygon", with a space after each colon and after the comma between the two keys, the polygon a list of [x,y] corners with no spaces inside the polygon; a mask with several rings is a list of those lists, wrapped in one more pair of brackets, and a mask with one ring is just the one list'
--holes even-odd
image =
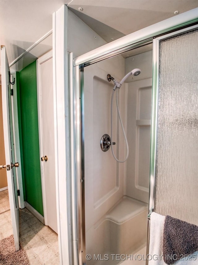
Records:
{"label": "closed white door with brass knob, right of the green wall", "polygon": [[[40,154],[44,222],[58,233],[56,210],[52,52],[37,60]],[[45,156],[47,157],[47,160]]]}

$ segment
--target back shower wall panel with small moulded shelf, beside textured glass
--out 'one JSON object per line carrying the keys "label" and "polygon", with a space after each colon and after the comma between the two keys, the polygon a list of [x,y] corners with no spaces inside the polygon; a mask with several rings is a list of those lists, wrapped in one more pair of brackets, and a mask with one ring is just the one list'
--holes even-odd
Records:
{"label": "back shower wall panel with small moulded shelf, beside textured glass", "polygon": [[126,195],[148,203],[152,79],[128,83]]}

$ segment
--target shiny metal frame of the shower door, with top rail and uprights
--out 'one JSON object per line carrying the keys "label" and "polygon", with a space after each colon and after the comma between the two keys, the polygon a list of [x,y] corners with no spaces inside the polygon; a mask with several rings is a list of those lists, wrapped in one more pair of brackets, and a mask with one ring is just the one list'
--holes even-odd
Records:
{"label": "shiny metal frame of the shower door, with top rail and uprights", "polygon": [[[188,31],[189,26],[198,23],[198,8],[187,11],[176,17],[161,21],[145,29],[129,34],[123,38],[115,40],[112,43],[105,44],[91,52],[79,56],[73,60],[74,84],[70,82],[70,91],[73,89],[73,102],[71,108],[74,116],[73,132],[75,158],[74,171],[72,174],[72,203],[75,210],[73,218],[73,233],[76,235],[77,249],[74,251],[74,257],[78,259],[79,265],[86,264],[85,257],[85,203],[84,203],[84,67],[107,58],[122,54],[129,50],[147,45],[153,42],[153,84],[152,84],[152,118],[151,118],[151,153],[150,153],[150,189],[149,189],[149,209],[154,209],[155,203],[155,162],[156,162],[156,141],[157,141],[157,98],[159,83],[159,40],[168,38],[181,32]],[[188,29],[187,29],[188,27]],[[196,27],[196,26],[194,26]],[[172,32],[172,33],[170,33]],[[159,37],[162,36],[162,37]],[[71,66],[70,66],[71,67]],[[72,102],[71,102],[72,104]],[[75,209],[74,209],[75,208]],[[152,211],[151,211],[152,212]],[[149,228],[148,222],[148,243],[149,246]],[[75,240],[74,240],[75,241]]]}

